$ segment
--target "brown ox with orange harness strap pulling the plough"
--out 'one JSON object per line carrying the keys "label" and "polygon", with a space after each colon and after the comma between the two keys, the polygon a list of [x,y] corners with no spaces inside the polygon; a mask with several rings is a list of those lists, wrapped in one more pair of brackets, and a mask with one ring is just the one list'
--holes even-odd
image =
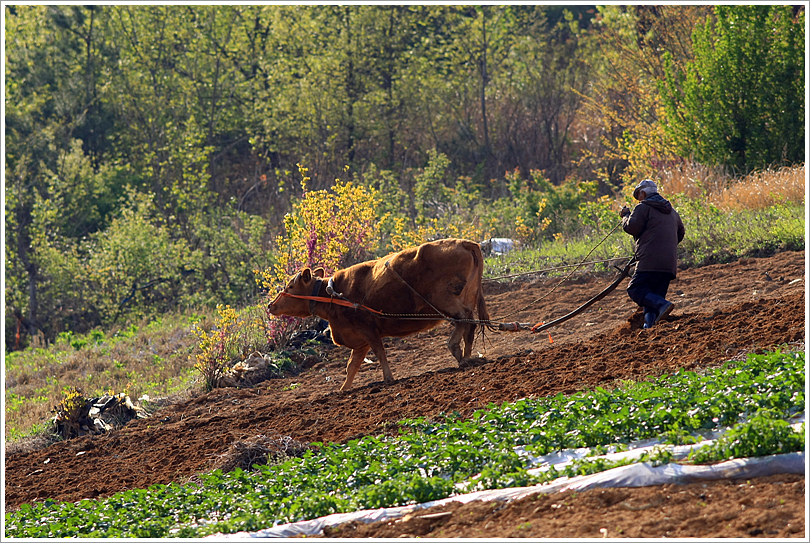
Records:
{"label": "brown ox with orange harness strap pulling the plough", "polygon": [[268,309],[273,315],[317,315],[329,321],[332,341],[352,350],[340,387],[344,391],[352,386],[369,349],[380,360],[385,382],[394,380],[383,337],[429,330],[446,318],[455,325],[447,344],[461,366],[472,352],[476,323],[468,321],[474,319],[474,311],[479,320],[489,321],[481,288],[483,271],[477,243],[443,239],[355,264],[328,280],[323,279],[322,268],[304,268]]}

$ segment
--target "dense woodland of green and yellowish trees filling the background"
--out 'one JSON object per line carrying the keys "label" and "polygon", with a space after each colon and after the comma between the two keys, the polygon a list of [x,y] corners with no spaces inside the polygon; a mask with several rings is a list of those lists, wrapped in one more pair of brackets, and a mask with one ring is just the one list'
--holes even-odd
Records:
{"label": "dense woodland of green and yellowish trees filling the background", "polygon": [[803,8],[4,9],[6,348],[252,299],[298,164],[413,219],[437,161],[495,199],[804,160]]}

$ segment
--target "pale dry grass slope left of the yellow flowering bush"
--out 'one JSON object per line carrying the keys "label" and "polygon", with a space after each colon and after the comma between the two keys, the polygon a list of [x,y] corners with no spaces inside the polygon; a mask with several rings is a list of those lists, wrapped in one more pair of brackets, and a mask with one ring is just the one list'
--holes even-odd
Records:
{"label": "pale dry grass slope left of the yellow flowering bush", "polygon": [[[133,399],[182,395],[194,388],[190,360],[197,338],[188,315],[166,316],[111,331],[86,344],[70,338],[6,356],[5,439],[47,433],[54,406],[69,387],[86,397],[125,392]],[[208,320],[211,320],[208,317]],[[84,339],[84,338],[81,338]]]}

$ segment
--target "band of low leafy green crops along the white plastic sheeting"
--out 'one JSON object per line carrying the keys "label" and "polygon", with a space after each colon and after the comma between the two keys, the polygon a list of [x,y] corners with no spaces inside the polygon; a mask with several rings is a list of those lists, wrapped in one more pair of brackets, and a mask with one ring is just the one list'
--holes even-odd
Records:
{"label": "band of low leafy green crops along the white plastic sheeting", "polygon": [[[803,433],[782,420],[804,410],[804,353],[750,355],[705,375],[680,370],[571,396],[491,405],[470,419],[400,423],[396,437],[313,444],[300,458],[254,471],[201,475],[198,483],[155,485],[104,500],[23,505],[6,515],[7,537],[199,537],[258,530],[338,512],[421,503],[466,491],[525,486],[631,461],[583,458],[530,475],[533,455],[572,447],[604,449],[658,437],[688,441],[731,427],[692,461],[804,450]],[[666,452],[635,461],[667,462]]]}

